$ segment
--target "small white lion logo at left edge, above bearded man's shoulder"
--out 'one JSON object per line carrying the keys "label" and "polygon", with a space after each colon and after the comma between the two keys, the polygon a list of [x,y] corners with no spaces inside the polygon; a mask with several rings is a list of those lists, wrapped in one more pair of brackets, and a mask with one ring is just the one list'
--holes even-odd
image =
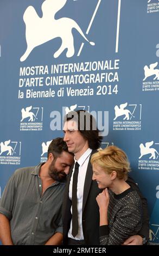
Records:
{"label": "small white lion logo at left edge, above bearded man's shoulder", "polygon": [[21,142],[4,141],[0,143],[0,163],[1,164],[20,164],[21,162]]}

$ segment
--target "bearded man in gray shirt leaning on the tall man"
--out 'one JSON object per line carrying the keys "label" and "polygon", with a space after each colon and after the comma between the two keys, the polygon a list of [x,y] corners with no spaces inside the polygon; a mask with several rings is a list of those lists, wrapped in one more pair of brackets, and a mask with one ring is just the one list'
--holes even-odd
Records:
{"label": "bearded man in gray shirt leaning on the tall man", "polygon": [[3,245],[61,244],[63,192],[73,161],[63,138],[56,138],[47,162],[15,171],[0,200]]}

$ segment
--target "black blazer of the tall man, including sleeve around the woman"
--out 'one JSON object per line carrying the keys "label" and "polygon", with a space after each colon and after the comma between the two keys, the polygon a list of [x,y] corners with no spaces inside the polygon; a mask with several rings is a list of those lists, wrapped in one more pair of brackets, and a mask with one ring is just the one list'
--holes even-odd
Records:
{"label": "black blazer of the tall man, including sleeve around the woman", "polygon": [[[96,153],[97,150],[92,150],[92,154]],[[91,159],[91,157],[90,157]],[[74,166],[74,165],[73,165]],[[66,184],[65,194],[63,197],[63,206],[62,206],[62,221],[63,221],[63,245],[67,245],[68,239],[68,230],[71,224],[71,205],[72,202],[69,199],[69,183],[72,176],[72,170],[69,171],[68,180]],[[92,180],[92,165],[90,161],[88,162],[85,184],[84,184],[84,196],[83,196],[83,204],[82,204],[82,229],[84,233],[84,239],[87,245],[99,245],[99,206],[96,201],[96,197],[99,193],[103,190],[98,188],[98,184],[96,181]],[[145,211],[145,224],[142,234],[143,236],[148,235],[149,224],[147,223],[148,218],[148,211],[147,211],[147,201],[143,198],[141,192],[135,182],[129,178],[128,183],[137,190],[139,195],[141,196],[142,201],[144,200],[144,211]]]}

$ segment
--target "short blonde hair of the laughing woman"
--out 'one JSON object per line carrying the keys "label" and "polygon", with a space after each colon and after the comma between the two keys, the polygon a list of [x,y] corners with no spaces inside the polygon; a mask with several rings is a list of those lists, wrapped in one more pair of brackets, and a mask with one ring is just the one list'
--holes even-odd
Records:
{"label": "short blonde hair of the laughing woman", "polygon": [[122,149],[116,146],[109,146],[105,149],[100,149],[91,157],[91,164],[103,168],[105,172],[111,174],[117,172],[118,179],[126,180],[128,172],[130,172],[130,163],[128,157]]}

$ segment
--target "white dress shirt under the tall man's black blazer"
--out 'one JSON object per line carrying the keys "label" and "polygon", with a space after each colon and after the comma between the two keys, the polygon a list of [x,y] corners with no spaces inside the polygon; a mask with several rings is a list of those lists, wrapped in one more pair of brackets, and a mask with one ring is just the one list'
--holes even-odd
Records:
{"label": "white dress shirt under the tall man's black blazer", "polygon": [[[68,237],[75,239],[75,240],[83,240],[84,234],[82,230],[82,202],[83,202],[83,194],[84,194],[84,184],[85,184],[85,177],[88,167],[88,162],[90,160],[92,149],[88,148],[85,153],[79,158],[79,160],[75,160],[75,163],[79,163],[79,173],[78,173],[78,183],[77,183],[77,210],[78,210],[78,234],[77,236],[72,235],[72,220],[70,229],[68,231]],[[74,163],[74,166],[75,166]],[[72,176],[69,184],[69,199],[72,200],[72,182],[73,182],[73,174],[74,174],[74,167],[72,171]],[[72,213],[72,206],[71,206],[71,213]]]}

